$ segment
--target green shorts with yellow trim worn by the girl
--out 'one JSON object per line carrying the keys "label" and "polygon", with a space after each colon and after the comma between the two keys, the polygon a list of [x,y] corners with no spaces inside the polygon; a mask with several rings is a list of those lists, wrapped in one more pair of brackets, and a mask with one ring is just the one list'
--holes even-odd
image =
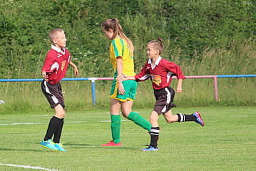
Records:
{"label": "green shorts with yellow trim worn by the girl", "polygon": [[118,93],[118,83],[116,79],[113,80],[110,98],[117,99],[118,101],[121,101],[121,102],[127,102],[127,100],[133,101],[135,99],[138,83],[135,80],[125,80],[123,81],[123,86],[124,86],[125,94],[121,95]]}

